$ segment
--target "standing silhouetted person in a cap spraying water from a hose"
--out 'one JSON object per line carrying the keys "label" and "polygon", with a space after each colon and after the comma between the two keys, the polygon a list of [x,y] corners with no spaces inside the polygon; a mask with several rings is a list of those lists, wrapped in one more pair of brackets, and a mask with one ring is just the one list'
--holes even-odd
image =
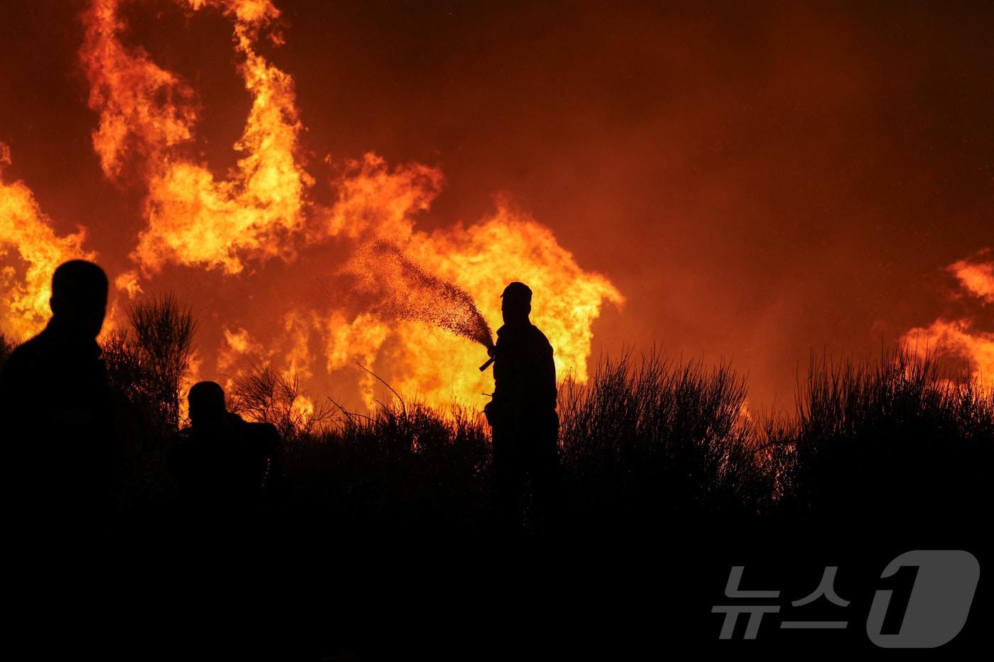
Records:
{"label": "standing silhouetted person in a cap spraying water from a hose", "polygon": [[540,525],[555,516],[559,478],[556,364],[549,340],[529,319],[532,290],[512,282],[501,294],[504,325],[493,349],[494,394],[484,408],[493,436],[493,489],[503,527],[523,522],[526,474]]}

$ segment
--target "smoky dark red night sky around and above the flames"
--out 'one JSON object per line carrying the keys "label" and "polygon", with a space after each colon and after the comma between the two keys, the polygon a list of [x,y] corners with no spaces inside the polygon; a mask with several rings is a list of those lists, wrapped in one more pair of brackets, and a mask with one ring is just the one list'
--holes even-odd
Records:
{"label": "smoky dark red night sky around and above the flames", "polygon": [[[150,4],[131,37],[197,89],[223,170],[249,102],[230,24]],[[953,314],[943,267],[994,245],[994,4],[276,5],[267,56],[312,174],[329,152],[437,165],[426,228],[508,194],[627,297],[595,344],[732,358],[753,401],[792,402],[812,349],[872,353]],[[0,141],[60,231],[124,266],[111,229],[140,227],[141,191],[90,149],[83,6],[3,4]]]}

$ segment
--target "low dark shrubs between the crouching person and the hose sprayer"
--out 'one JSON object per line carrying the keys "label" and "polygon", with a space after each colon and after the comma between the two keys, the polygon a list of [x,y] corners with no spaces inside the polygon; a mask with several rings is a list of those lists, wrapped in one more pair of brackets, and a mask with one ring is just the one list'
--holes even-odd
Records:
{"label": "low dark shrubs between the crouching person and the hose sprayer", "polygon": [[334,423],[285,444],[286,507],[382,534],[479,530],[488,518],[489,435],[482,416],[416,400]]}

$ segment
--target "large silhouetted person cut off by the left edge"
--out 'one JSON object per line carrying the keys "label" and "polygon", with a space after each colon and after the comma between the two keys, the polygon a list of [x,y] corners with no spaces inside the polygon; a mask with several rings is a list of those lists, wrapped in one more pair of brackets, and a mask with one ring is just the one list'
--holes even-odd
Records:
{"label": "large silhouetted person cut off by the left edge", "polygon": [[0,367],[7,508],[19,525],[58,535],[111,512],[115,449],[96,336],[107,277],[74,259],[52,277],[52,318]]}

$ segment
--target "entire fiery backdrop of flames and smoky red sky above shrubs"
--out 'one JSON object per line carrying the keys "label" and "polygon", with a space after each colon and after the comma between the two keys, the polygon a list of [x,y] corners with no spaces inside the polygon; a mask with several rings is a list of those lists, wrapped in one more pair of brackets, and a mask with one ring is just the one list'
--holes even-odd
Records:
{"label": "entire fiery backdrop of flames and smoky red sky above shrubs", "polygon": [[989,382],[994,10],[871,5],[5,3],[0,332],[89,257],[105,329],[171,292],[195,377],[298,411],[392,397],[356,364],[481,406],[511,280],[561,378],[656,346],[789,409],[906,341]]}

